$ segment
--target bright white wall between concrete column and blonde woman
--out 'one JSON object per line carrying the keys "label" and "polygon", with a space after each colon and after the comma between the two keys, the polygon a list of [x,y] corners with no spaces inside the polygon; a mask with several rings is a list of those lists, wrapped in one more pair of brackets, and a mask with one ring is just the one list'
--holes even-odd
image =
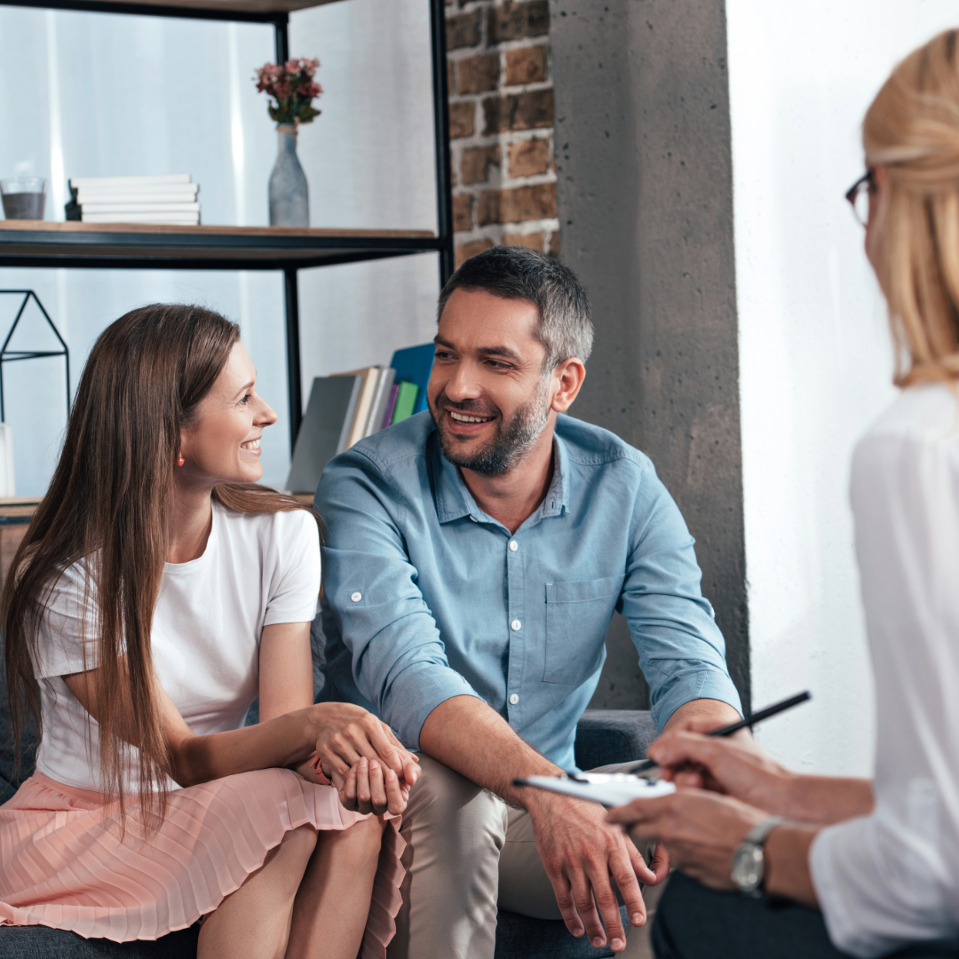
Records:
{"label": "bright white wall between concrete column and blonde woman", "polygon": [[893,65],[959,0],[726,0],[753,703],[814,700],[760,741],[866,774],[873,698],[847,486],[893,397],[885,305],[843,193]]}

